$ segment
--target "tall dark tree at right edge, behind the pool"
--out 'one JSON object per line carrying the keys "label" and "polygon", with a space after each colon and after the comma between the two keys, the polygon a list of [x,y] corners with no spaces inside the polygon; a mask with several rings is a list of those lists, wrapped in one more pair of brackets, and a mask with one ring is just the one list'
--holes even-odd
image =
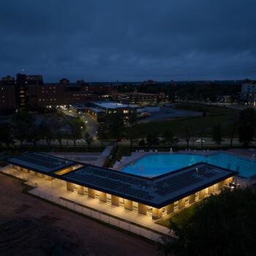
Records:
{"label": "tall dark tree at right edge, behind the pool", "polygon": [[242,110],[239,117],[239,141],[248,147],[255,135],[256,112],[252,108]]}

